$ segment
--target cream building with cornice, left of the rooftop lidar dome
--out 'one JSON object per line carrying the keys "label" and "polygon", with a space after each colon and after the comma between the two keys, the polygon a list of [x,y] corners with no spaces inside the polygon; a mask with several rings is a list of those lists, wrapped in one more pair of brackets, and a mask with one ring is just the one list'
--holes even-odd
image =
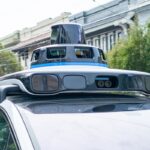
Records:
{"label": "cream building with cornice, left of the rooftop lidar dome", "polygon": [[24,69],[30,68],[31,55],[34,49],[50,44],[51,26],[58,23],[68,23],[68,12],[62,13],[56,18],[48,18],[38,22],[36,26],[24,28],[0,39],[4,50],[12,50],[18,55],[18,59]]}

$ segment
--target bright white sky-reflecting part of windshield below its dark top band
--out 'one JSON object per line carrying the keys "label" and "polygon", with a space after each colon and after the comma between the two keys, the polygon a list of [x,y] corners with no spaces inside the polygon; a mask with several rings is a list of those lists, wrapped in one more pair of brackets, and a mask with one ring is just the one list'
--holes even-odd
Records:
{"label": "bright white sky-reflecting part of windshield below its dark top band", "polygon": [[150,150],[150,111],[26,115],[43,150]]}

